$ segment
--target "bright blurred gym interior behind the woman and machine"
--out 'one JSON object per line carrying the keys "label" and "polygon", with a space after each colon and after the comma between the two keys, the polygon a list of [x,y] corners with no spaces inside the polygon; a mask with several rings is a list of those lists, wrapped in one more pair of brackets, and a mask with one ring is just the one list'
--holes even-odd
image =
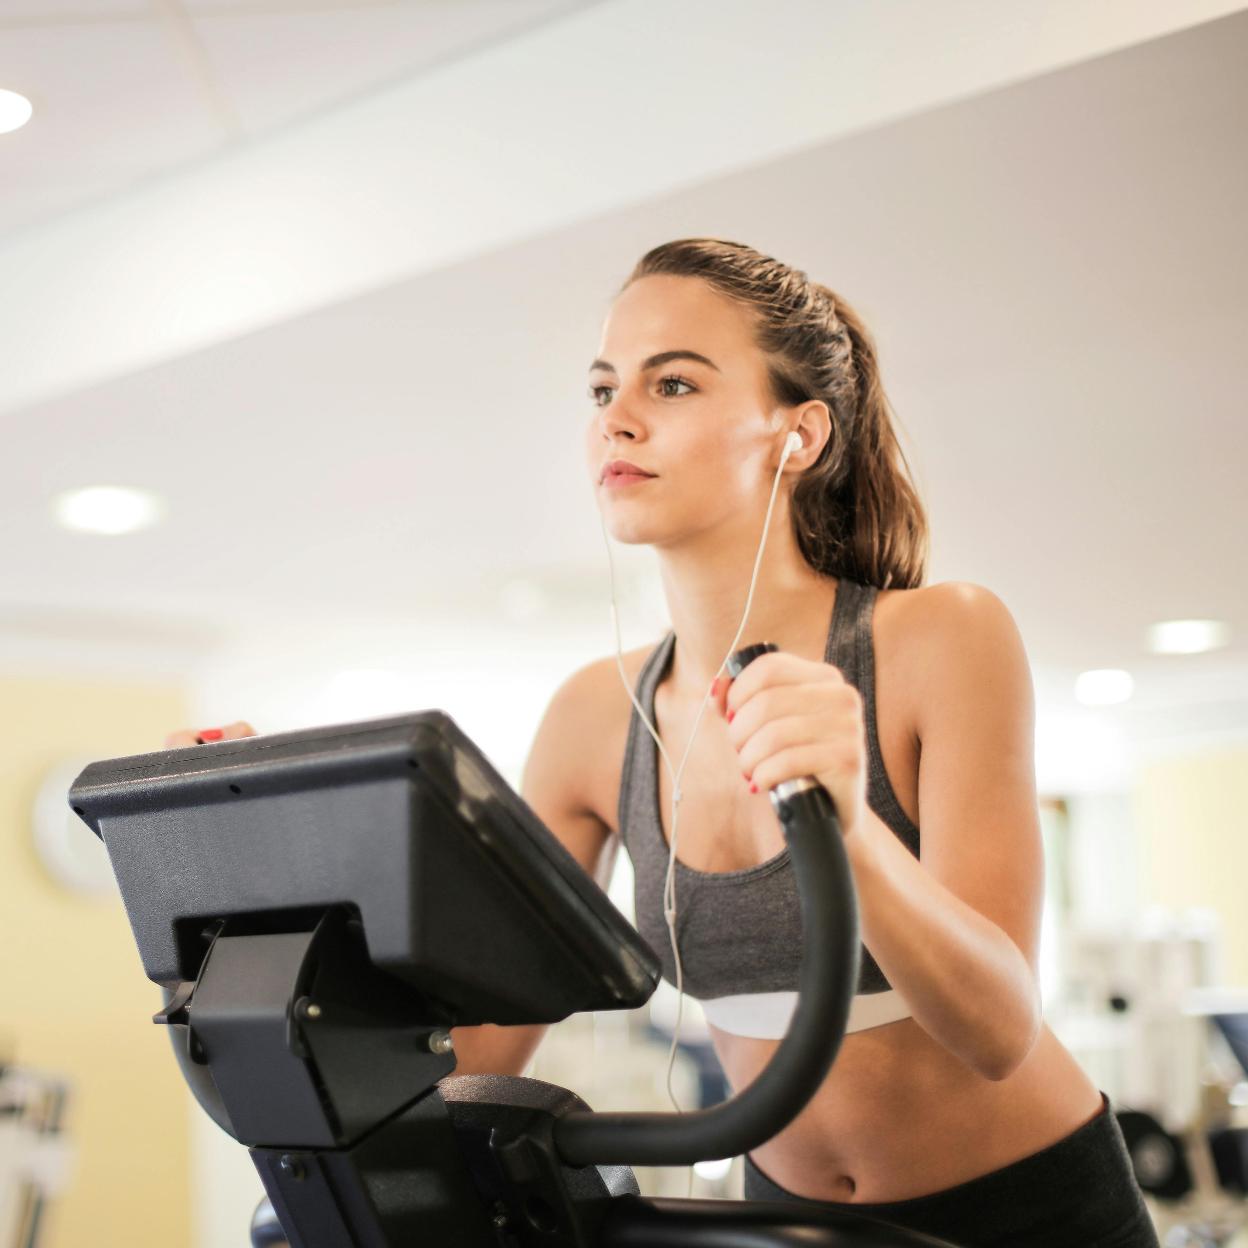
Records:
{"label": "bright blurred gym interior behind the woman and machine", "polygon": [[[1248,1112],[1201,1016],[1248,1010],[1243,7],[0,0],[32,107],[0,134],[0,1063],[62,1127],[0,1136],[0,1209],[46,1188],[49,1248],[243,1242],[258,1181],[65,790],[185,725],[432,706],[518,786],[614,644],[584,371],[690,233],[860,308],[930,582],[1018,622],[1050,1023],[1176,1138],[1211,1090]],[[625,646],[658,640],[617,557]],[[660,1108],[670,1010],[569,1020],[533,1072]]]}

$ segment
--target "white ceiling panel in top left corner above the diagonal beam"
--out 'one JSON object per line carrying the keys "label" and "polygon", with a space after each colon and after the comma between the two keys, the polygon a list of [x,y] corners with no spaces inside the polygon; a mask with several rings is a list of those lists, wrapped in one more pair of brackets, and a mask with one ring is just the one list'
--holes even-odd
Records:
{"label": "white ceiling panel in top left corner above the diagonal beam", "polygon": [[0,0],[0,233],[218,156],[595,0]]}

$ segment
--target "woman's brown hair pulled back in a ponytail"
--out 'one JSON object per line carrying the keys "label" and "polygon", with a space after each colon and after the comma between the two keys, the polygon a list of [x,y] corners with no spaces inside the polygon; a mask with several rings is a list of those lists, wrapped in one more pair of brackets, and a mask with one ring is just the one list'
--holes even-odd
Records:
{"label": "woman's brown hair pulled back in a ponytail", "polygon": [[832,432],[792,490],[794,535],[806,562],[880,589],[921,585],[927,515],[894,432],[875,343],[857,313],[800,270],[721,238],[663,243],[624,286],[655,273],[700,277],[753,311],[778,403],[827,404]]}

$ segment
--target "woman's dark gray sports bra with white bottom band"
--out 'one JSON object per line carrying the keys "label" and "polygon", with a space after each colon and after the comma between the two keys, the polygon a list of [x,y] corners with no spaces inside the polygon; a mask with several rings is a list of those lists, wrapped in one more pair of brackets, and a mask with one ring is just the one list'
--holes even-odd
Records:
{"label": "woman's dark gray sports bra with white bottom band", "polygon": [[[901,809],[884,769],[875,720],[875,654],[871,615],[876,588],[841,578],[836,584],[825,661],[862,695],[867,740],[867,804],[915,857],[919,829]],[[668,674],[675,633],[646,658],[636,700],[654,723],[654,691]],[[619,829],[635,875],[636,926],[675,982],[675,961],[663,917],[668,841],[659,822],[659,751],[634,709],[624,750]],[[676,860],[676,940],[685,992],[710,1023],[740,1036],[780,1037],[796,1003],[801,916],[787,846],[766,862],[740,871],[696,871]],[[910,1016],[866,946],[849,1031]]]}

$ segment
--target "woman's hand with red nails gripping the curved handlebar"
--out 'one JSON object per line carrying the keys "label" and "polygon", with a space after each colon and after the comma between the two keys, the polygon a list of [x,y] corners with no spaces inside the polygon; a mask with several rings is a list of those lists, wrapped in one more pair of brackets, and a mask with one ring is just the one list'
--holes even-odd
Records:
{"label": "woman's hand with red nails gripping the curved handlebar", "polygon": [[735,680],[720,675],[710,696],[728,719],[741,771],[758,792],[814,776],[836,805],[841,832],[866,814],[866,726],[862,696],[839,668],[774,650]]}

